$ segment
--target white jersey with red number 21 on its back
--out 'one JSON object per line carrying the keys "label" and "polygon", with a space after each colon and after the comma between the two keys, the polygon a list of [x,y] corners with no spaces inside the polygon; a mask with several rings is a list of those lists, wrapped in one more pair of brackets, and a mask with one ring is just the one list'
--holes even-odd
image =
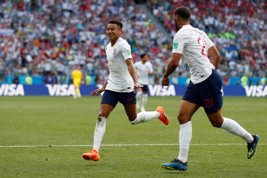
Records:
{"label": "white jersey with red number 21 on its back", "polygon": [[205,32],[191,25],[184,25],[174,36],[172,53],[185,56],[193,84],[204,81],[215,70],[208,58],[208,49],[213,45]]}

